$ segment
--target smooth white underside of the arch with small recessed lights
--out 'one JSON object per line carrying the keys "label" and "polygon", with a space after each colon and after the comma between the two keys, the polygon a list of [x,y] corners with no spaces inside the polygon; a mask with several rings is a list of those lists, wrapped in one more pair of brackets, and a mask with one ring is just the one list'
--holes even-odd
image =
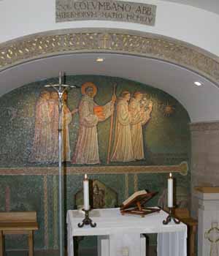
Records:
{"label": "smooth white underside of the arch with small recessed lights", "polygon": [[[104,62],[96,62],[97,57],[103,57]],[[66,75],[110,75],[136,80],[178,99],[193,122],[219,120],[218,86],[183,67],[141,56],[74,53],[28,61],[1,71],[0,94],[36,80],[57,77],[59,70]],[[195,86],[194,81],[203,86]]]}

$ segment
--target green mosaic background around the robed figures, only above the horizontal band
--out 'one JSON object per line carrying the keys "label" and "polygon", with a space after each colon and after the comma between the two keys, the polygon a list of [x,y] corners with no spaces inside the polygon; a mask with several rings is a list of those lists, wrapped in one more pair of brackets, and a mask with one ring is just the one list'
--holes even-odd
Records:
{"label": "green mosaic background around the robed figures, only above the horizontal band", "polygon": [[[131,80],[103,76],[68,76],[65,83],[81,86],[91,81],[98,87],[95,101],[99,105],[109,102],[112,97],[112,86],[118,84],[117,96],[121,91],[131,93],[142,91],[147,93],[147,99],[153,102],[152,118],[145,127],[145,161],[128,163],[128,165],[164,165],[182,162],[188,159],[190,134],[188,129],[189,117],[186,110],[176,99],[164,91],[145,86]],[[0,98],[1,137],[0,165],[4,167],[31,166],[28,157],[34,138],[35,106],[39,93],[45,90],[45,84],[57,83],[57,78],[30,83],[15,89]],[[80,89],[69,91],[68,105],[70,110],[77,108],[81,98]],[[166,116],[164,109],[171,105],[173,113]],[[69,125],[72,152],[77,141],[78,114],[74,115]],[[106,165],[107,146],[110,132],[110,118],[98,124],[99,155],[101,163]],[[171,160],[169,160],[171,158]],[[180,160],[181,159],[181,160]],[[178,161],[179,160],[179,161]],[[124,165],[111,163],[111,165]]]}

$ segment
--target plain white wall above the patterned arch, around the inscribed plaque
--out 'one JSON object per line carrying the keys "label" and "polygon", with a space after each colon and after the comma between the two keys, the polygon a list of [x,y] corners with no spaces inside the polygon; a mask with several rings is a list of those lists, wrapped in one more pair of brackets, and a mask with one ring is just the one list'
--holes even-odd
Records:
{"label": "plain white wall above the patterned arch, around the inscribed plaque", "polygon": [[133,1],[157,5],[155,26],[105,20],[55,23],[55,0],[1,0],[0,42],[42,31],[102,27],[161,34],[189,42],[219,56],[219,15],[168,1]]}

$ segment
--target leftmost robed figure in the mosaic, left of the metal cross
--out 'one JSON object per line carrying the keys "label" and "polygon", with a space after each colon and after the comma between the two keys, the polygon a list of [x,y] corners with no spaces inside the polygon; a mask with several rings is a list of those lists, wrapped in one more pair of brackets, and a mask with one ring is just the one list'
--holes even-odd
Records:
{"label": "leftmost robed figure in the mosaic, left of the metal cross", "polygon": [[52,157],[52,126],[50,115],[50,92],[42,91],[35,112],[34,142],[30,162],[48,162]]}

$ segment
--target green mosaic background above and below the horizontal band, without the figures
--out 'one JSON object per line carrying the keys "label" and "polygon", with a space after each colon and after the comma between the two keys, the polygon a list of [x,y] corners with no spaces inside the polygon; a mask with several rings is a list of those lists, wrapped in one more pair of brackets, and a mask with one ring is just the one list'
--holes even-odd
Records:
{"label": "green mosaic background above and below the horizontal band, without the figures", "polygon": [[[67,76],[65,83],[81,86],[82,83],[91,81],[98,87],[98,94],[95,97],[96,103],[103,105],[110,101],[112,97],[112,86],[118,84],[117,95],[123,90],[131,93],[142,91],[147,93],[147,99],[153,101],[152,118],[144,127],[145,136],[145,157],[144,161],[130,162],[127,164],[113,163],[110,165],[178,165],[180,162],[188,162],[190,167],[190,132],[188,123],[190,118],[188,113],[177,102],[176,99],[166,94],[164,91],[122,78],[112,78],[105,76],[77,75]],[[58,78],[41,80],[21,86],[0,98],[0,167],[16,170],[16,167],[36,167],[40,170],[42,165],[34,165],[28,162],[31,152],[31,145],[34,138],[34,115],[35,105],[40,91],[44,90],[45,84],[57,83]],[[80,89],[69,91],[68,105],[70,110],[77,108],[80,102]],[[173,113],[169,116],[165,114],[166,105],[171,105]],[[73,118],[69,125],[70,143],[72,153],[77,141],[78,115]],[[110,119],[98,125],[99,134],[99,154],[101,164],[106,165],[107,140],[110,130]],[[70,163],[68,165],[74,166]],[[47,164],[46,166],[56,166]],[[98,166],[98,165],[97,165]],[[113,168],[113,167],[112,167]],[[190,170],[187,176],[174,174],[177,187],[183,189],[190,195]],[[58,177],[47,176],[47,190],[43,184],[45,176],[0,176],[0,211],[6,211],[9,206],[10,211],[37,211],[39,230],[35,233],[34,242],[37,249],[56,249],[58,245]],[[118,192],[118,203],[126,199],[126,177],[125,174],[96,174],[89,178],[98,179]],[[158,198],[166,188],[167,174],[163,173],[140,173],[137,175],[137,189],[149,189],[158,191],[153,200],[148,205],[155,206]],[[5,192],[9,187],[9,198]],[[66,177],[66,208],[75,208],[74,195],[82,188],[82,175],[69,175]],[[181,190],[182,190],[181,189]],[[128,194],[134,192],[134,174],[128,174]],[[47,194],[46,194],[47,193]],[[47,208],[45,208],[45,203]],[[47,210],[47,212],[45,212]],[[45,219],[47,217],[47,219]],[[47,230],[45,222],[47,221]],[[55,225],[54,225],[55,224]],[[26,239],[18,236],[14,239],[7,237],[6,246],[8,249],[26,248]],[[93,246],[93,241],[81,246]]]}

